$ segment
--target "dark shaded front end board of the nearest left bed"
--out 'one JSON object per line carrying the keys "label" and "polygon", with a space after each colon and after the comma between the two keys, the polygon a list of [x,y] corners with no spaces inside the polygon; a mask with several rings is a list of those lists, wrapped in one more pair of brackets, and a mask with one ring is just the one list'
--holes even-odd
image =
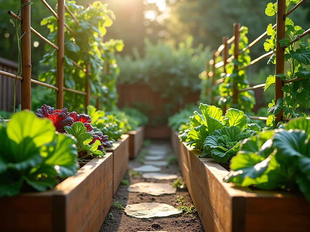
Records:
{"label": "dark shaded front end board of the nearest left bed", "polygon": [[52,232],[52,196],[18,195],[0,199],[1,231]]}

